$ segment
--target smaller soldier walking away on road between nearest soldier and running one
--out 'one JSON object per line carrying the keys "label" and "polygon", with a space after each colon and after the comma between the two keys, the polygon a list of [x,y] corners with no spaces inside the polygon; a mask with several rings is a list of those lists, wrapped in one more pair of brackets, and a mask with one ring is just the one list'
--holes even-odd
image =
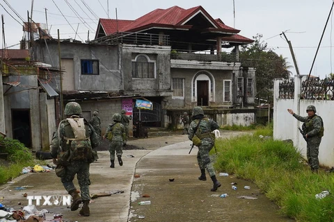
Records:
{"label": "smaller soldier walking away on road between nearest soldier and running one", "polygon": [[123,165],[122,162],[122,146],[125,141],[125,128],[121,121],[121,116],[119,113],[113,114],[113,124],[110,124],[106,129],[106,134],[104,134],[103,139],[108,138],[110,141],[109,153],[111,168],[115,168],[115,151],[118,159],[118,164]]}

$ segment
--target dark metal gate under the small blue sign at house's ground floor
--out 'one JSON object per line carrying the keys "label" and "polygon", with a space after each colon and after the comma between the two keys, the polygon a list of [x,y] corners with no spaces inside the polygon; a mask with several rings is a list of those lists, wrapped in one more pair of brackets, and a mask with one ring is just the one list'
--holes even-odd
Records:
{"label": "dark metal gate under the small blue sign at house's ground floor", "polygon": [[136,107],[133,111],[134,122],[159,122],[161,121],[161,105],[159,103],[153,103],[153,110],[139,110]]}

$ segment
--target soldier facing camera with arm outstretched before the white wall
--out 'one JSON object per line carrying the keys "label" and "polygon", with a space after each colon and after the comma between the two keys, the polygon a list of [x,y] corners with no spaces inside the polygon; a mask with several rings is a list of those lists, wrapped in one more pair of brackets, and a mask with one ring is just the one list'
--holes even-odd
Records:
{"label": "soldier facing camera with arm outstretched before the white wall", "polygon": [[292,114],[294,118],[305,123],[305,138],[307,143],[306,156],[308,157],[308,164],[311,167],[311,171],[317,173],[319,169],[319,145],[321,143],[321,137],[324,136],[324,123],[317,114],[314,105],[308,105],[306,112],[307,117],[301,117],[294,113],[293,110],[287,109],[289,114]]}

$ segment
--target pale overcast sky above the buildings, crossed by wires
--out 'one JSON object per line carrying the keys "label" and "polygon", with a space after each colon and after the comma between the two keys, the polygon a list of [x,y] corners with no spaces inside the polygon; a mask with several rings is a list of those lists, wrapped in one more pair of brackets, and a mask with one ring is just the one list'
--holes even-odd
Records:
{"label": "pale overcast sky above the buildings, crossed by wires", "polygon": [[[31,13],[31,2],[0,0],[6,46],[11,46],[10,49],[19,47],[15,44],[22,39],[22,20],[26,22],[27,11]],[[260,33],[269,49],[283,55],[291,65],[294,65],[289,46],[283,35],[280,35],[285,31],[294,48],[300,74],[309,74],[331,10],[332,0],[234,0],[234,6],[233,0],[34,0],[33,21],[46,23],[46,8],[47,25],[53,37],[57,37],[59,29],[61,38],[75,37],[76,40],[86,41],[88,30],[90,40],[93,40],[98,19],[108,17],[115,19],[116,9],[118,19],[133,20],[154,9],[166,9],[172,6],[181,8],[202,6],[214,19],[220,18],[226,25],[241,30],[240,35],[252,38]],[[331,41],[333,26],[331,16],[312,68],[314,76],[324,78],[334,72],[332,52],[334,41],[333,43]],[[1,35],[1,48],[3,46]],[[293,75],[296,74],[294,68],[290,71]]]}

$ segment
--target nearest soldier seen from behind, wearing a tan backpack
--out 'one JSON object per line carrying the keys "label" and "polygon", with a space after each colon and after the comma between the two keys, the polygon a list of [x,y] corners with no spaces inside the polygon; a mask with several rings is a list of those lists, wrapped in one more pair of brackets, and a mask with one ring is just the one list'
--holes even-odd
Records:
{"label": "nearest soldier seen from behind, wearing a tan backpack", "polygon": [[[100,138],[96,135],[92,126],[82,118],[82,110],[79,103],[70,102],[65,106],[64,119],[59,123],[51,144],[51,156],[54,164],[65,167],[57,174],[61,177],[61,182],[72,196],[71,210],[78,210],[79,204],[84,203],[79,214],[89,216],[89,164],[95,161],[93,149],[100,145]],[[56,169],[57,169],[56,168]],[[81,196],[73,184],[74,176],[80,187]]]}

